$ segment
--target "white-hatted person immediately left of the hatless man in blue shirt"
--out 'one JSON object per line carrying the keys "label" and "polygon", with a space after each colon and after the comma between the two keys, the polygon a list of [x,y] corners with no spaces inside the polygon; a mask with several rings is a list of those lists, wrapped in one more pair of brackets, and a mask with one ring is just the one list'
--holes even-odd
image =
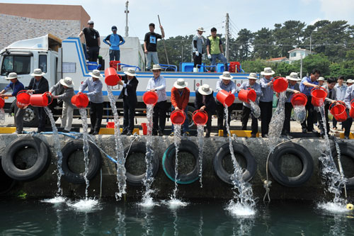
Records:
{"label": "white-hatted person immediately left of the hatless man in blue shirt", "polygon": [[285,92],[285,119],[284,125],[282,125],[282,135],[290,137],[290,118],[292,111],[292,94],[299,94],[300,88],[297,82],[300,82],[301,79],[297,76],[296,72],[291,72],[289,76],[286,77],[288,83],[287,90]]}

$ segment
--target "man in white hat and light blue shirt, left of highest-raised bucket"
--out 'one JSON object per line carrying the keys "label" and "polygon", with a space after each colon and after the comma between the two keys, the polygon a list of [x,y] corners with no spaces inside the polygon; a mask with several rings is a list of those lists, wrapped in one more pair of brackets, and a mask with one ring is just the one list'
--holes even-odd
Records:
{"label": "man in white hat and light blue shirt, left of highest-raised bucket", "polygon": [[103,115],[103,93],[102,93],[102,82],[100,79],[103,78],[102,74],[98,69],[93,69],[89,72],[91,78],[87,78],[79,88],[79,92],[83,92],[86,87],[89,92],[86,93],[90,100],[90,120],[91,120],[91,130],[90,135],[98,135],[101,129],[102,115]]}

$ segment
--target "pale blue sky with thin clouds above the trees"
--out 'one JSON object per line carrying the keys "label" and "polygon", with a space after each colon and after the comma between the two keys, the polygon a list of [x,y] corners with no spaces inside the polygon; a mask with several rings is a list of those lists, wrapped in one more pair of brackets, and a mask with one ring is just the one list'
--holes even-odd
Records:
{"label": "pale blue sky with thin clouds above the trees", "polygon": [[[33,0],[1,1],[13,4],[64,4],[81,5],[95,22],[94,28],[101,36],[111,33],[111,26],[118,27],[118,34],[125,36],[126,0]],[[241,28],[252,32],[261,28],[274,28],[275,23],[288,20],[302,21],[307,25],[319,20],[345,20],[354,25],[354,0],[130,0],[129,36],[144,39],[149,23],[155,23],[156,33],[160,16],[166,38],[191,35],[201,26],[210,35],[210,28],[225,33],[225,18],[229,13],[232,38]]]}

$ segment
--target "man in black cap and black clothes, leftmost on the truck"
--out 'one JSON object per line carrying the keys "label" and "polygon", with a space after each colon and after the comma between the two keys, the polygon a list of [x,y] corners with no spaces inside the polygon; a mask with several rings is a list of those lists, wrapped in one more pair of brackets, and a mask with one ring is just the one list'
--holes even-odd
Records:
{"label": "man in black cap and black clothes, leftmost on the truck", "polygon": [[79,33],[79,38],[85,35],[86,47],[89,54],[90,62],[97,62],[98,53],[100,52],[101,40],[100,34],[93,28],[93,21],[87,22],[88,27]]}

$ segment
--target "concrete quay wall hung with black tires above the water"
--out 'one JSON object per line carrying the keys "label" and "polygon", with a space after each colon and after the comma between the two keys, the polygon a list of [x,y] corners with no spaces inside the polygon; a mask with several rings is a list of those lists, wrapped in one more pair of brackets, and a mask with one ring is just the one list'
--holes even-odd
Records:
{"label": "concrete quay wall hung with black tires above the water", "polygon": [[[45,172],[40,179],[30,182],[17,183],[16,186],[8,193],[8,196],[16,195],[19,191],[24,191],[28,193],[30,197],[52,197],[57,191],[57,175],[56,170],[56,160],[54,154],[53,140],[50,135],[39,135],[39,137],[50,145],[52,150],[52,164],[50,168]],[[16,135],[0,135],[0,154],[4,154],[4,148],[16,138]],[[154,136],[154,152],[160,159],[159,172],[154,180],[153,189],[156,190],[156,198],[169,198],[171,195],[174,183],[171,181],[164,170],[161,167],[162,157],[166,148],[173,143],[173,137],[157,137]],[[61,145],[62,147],[66,142],[72,140],[70,137],[62,137]],[[145,141],[145,137],[141,137],[142,141]],[[192,140],[197,143],[196,137],[188,137],[188,140]],[[115,157],[115,141],[113,135],[98,135],[96,136],[97,144],[108,152],[111,156]],[[126,148],[130,145],[130,139],[123,136],[122,138],[123,146]],[[214,170],[212,168],[212,158],[215,156],[217,149],[227,142],[224,137],[210,137],[205,139],[205,170],[203,172],[202,183],[203,187],[200,188],[199,181],[195,181],[193,184],[179,185],[178,186],[178,197],[180,198],[232,198],[232,189],[228,184],[224,184],[221,180],[215,176]],[[261,201],[263,199],[265,189],[263,188],[263,181],[265,180],[265,163],[268,156],[268,139],[256,138],[256,139],[246,139],[237,138],[237,142],[241,142],[251,150],[251,153],[256,158],[258,164],[256,175],[250,181],[252,184],[252,189],[254,196]],[[314,201],[316,199],[322,200],[325,197],[333,198],[333,196],[327,194],[324,196],[324,188],[322,184],[321,175],[319,174],[319,156],[320,150],[324,148],[324,140],[321,139],[295,139],[293,142],[305,147],[309,153],[312,155],[314,160],[314,174],[312,174],[311,179],[307,181],[304,186],[297,188],[289,188],[278,184],[271,174],[269,174],[269,179],[273,181],[270,188],[270,198],[275,199],[291,199],[291,200],[308,200]],[[349,140],[350,144],[354,145],[353,140]],[[108,158],[102,155],[103,158],[103,188],[102,195],[105,197],[113,197],[114,193],[118,191],[118,187],[115,184],[115,165]],[[181,163],[183,168],[188,168],[187,162],[190,161],[184,159],[185,163]],[[343,166],[348,168],[348,166],[353,166],[353,160],[348,158],[342,158]],[[141,163],[140,163],[141,164]],[[136,164],[137,166],[139,163]],[[283,165],[289,169],[290,172],[292,167],[294,171],[301,169],[299,167],[299,161],[297,159],[285,159]],[[132,167],[128,167],[132,168]],[[345,168],[345,169],[346,169]],[[353,169],[351,167],[350,169]],[[348,176],[351,177],[351,176]],[[90,182],[89,196],[99,196],[100,193],[100,175],[96,176]],[[71,197],[82,197],[84,196],[85,185],[69,184],[67,181],[62,179],[62,186],[64,189],[64,194]],[[140,198],[142,196],[143,187],[141,186],[127,186],[127,197]],[[353,196],[353,191],[348,191],[349,196]]]}

